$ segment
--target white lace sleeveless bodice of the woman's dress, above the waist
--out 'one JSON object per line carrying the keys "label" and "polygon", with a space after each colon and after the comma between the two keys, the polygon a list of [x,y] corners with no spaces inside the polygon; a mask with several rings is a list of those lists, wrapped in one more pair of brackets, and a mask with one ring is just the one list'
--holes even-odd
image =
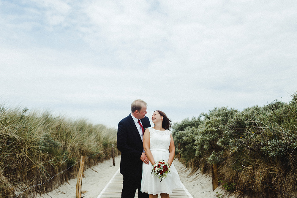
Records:
{"label": "white lace sleeveless bodice of the woman's dress, above the waist", "polygon": [[170,131],[159,131],[152,127],[149,128],[151,134],[150,149],[169,149],[170,145]]}

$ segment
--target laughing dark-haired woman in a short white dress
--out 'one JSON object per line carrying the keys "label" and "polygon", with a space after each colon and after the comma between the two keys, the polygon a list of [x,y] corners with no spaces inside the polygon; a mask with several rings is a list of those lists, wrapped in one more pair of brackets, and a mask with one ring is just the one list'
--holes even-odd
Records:
{"label": "laughing dark-haired woman in a short white dress", "polygon": [[[148,193],[149,198],[169,198],[172,190],[181,188],[181,180],[173,164],[175,147],[173,137],[170,132],[171,121],[162,111],[154,111],[152,117],[154,127],[147,128],[143,135],[143,149],[149,159],[149,164],[142,165],[142,192]],[[170,173],[161,182],[158,177],[151,173],[156,161],[164,160],[170,165]]]}

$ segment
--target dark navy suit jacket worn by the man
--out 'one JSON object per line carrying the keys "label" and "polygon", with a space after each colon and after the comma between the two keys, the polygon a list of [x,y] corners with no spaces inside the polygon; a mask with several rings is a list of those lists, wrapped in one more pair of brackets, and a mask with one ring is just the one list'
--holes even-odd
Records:
{"label": "dark navy suit jacket worn by the man", "polygon": [[[121,151],[120,173],[142,174],[142,161],[140,156],[143,152],[143,144],[140,134],[135,126],[132,115],[123,118],[118,125],[117,148]],[[148,117],[141,119],[143,128],[151,127]]]}

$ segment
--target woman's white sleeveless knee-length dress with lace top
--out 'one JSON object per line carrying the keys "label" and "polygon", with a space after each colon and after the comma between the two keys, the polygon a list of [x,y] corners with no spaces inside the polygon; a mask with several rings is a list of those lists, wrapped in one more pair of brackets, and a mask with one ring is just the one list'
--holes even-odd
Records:
{"label": "woman's white sleeveless knee-length dress with lace top", "polygon": [[[164,160],[166,163],[169,158],[169,145],[170,145],[170,131],[159,131],[154,128],[149,128],[150,132],[150,150],[154,156],[155,161]],[[179,179],[178,172],[172,163],[170,166],[170,173],[167,177],[161,179],[151,174],[153,166],[143,163],[142,165],[142,180],[141,180],[141,191],[148,194],[172,194],[172,190],[181,188],[181,180]]]}

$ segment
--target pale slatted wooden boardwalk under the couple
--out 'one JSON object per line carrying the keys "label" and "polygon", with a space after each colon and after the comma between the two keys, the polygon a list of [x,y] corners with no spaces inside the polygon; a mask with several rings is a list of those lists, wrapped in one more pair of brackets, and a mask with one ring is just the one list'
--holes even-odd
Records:
{"label": "pale slatted wooden boardwalk under the couple", "polygon": [[[123,175],[121,175],[120,170],[118,170],[113,177],[110,179],[108,184],[104,187],[101,193],[97,198],[121,198],[121,191],[123,187]],[[137,190],[135,197],[137,196]],[[170,195],[170,198],[183,198],[190,197],[193,198],[192,195],[188,192],[188,190],[184,187],[181,189],[173,190],[173,194]]]}

